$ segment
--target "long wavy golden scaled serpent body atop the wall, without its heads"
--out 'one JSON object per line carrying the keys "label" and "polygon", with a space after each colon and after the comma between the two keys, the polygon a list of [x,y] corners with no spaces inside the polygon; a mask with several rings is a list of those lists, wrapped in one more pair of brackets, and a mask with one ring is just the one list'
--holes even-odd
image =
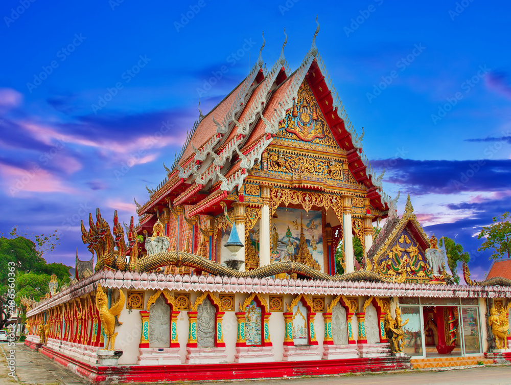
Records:
{"label": "long wavy golden scaled serpent body atop the wall, without its heads", "polygon": [[274,276],[276,274],[288,273],[297,274],[310,279],[320,279],[327,281],[375,281],[375,282],[393,282],[391,278],[382,277],[374,271],[360,270],[354,273],[348,273],[338,276],[330,276],[328,274],[321,273],[318,270],[313,269],[303,263],[297,262],[276,262],[271,265],[259,267],[249,271],[238,271],[231,269],[227,266],[222,266],[219,263],[213,262],[209,259],[204,259],[201,256],[192,253],[185,253],[180,251],[172,251],[166,253],[154,254],[149,257],[141,258],[137,261],[136,270],[138,271],[150,271],[157,269],[162,266],[176,265],[189,266],[195,269],[206,271],[206,273],[238,277],[238,278],[265,278]]}

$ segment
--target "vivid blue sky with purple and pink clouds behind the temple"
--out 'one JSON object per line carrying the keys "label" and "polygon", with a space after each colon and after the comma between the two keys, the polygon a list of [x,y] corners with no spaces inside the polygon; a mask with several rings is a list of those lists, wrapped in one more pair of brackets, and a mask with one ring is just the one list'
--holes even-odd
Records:
{"label": "vivid blue sky with purple and pink clouds behind the temple", "polygon": [[[80,220],[129,222],[166,176],[187,130],[288,35],[294,71],[316,44],[384,191],[410,194],[428,234],[489,270],[481,227],[511,210],[507,2],[0,4],[0,232],[58,229],[46,255],[89,259]],[[220,71],[226,67],[226,71]]]}

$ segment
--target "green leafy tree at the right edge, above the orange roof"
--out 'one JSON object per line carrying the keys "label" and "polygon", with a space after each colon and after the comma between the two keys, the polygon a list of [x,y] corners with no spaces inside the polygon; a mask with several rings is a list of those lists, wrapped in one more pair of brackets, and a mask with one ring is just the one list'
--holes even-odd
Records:
{"label": "green leafy tree at the right edge, above the orange roof", "polygon": [[477,239],[486,238],[478,251],[493,248],[490,258],[499,259],[504,256],[511,257],[511,214],[505,212],[502,216],[494,217],[493,223],[484,226]]}

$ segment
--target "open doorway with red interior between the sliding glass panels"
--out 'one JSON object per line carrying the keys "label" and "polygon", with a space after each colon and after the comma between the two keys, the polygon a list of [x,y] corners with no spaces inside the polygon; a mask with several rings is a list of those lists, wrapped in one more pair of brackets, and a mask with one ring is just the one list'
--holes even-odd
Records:
{"label": "open doorway with red interior between the sliding glass panels", "polygon": [[424,306],[426,356],[461,356],[459,306]]}

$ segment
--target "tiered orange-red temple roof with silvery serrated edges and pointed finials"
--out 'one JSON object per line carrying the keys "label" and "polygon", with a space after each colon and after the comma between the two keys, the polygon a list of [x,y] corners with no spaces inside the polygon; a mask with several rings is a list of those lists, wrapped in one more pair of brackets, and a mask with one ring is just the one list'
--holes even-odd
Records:
{"label": "tiered orange-red temple roof with silvery serrated edges and pointed finials", "polygon": [[[152,215],[159,206],[212,204],[192,208],[191,214],[216,214],[218,205],[229,192],[241,187],[255,161],[272,142],[279,122],[292,107],[298,88],[304,81],[310,84],[322,114],[327,120],[340,148],[347,154],[350,171],[367,189],[370,205],[382,212],[389,210],[391,200],[382,192],[381,179],[376,177],[362,151],[363,132],[358,135],[347,117],[339,96],[321,58],[317,55],[314,35],[311,49],[296,71],[289,74],[284,57],[269,71],[261,57],[248,76],[206,116],[188,135],[173,168],[157,189],[149,190],[150,198],[138,207],[141,225],[152,225]],[[287,41],[287,36],[286,36]],[[263,42],[264,47],[264,42]],[[261,47],[261,50],[262,48]],[[205,211],[206,210],[206,211]],[[144,215],[146,215],[144,217]],[[153,219],[155,220],[155,219]]]}

